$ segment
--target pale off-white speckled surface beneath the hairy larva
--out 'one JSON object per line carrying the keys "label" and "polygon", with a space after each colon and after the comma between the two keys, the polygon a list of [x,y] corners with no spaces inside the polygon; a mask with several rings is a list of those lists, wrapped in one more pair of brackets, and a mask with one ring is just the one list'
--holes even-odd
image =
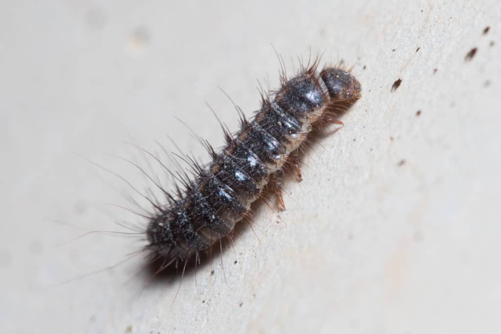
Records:
{"label": "pale off-white speckled surface beneath the hairy larva", "polygon": [[[1,331],[495,332],[500,32],[497,0],[2,2]],[[250,115],[256,78],[278,84],[270,44],[290,68],[310,48],[354,65],[363,98],[287,184],[288,210],[258,210],[261,243],[241,229],[222,254],[226,281],[216,258],[213,275],[197,272],[199,295],[187,275],[173,305],[179,279],[124,284],[140,258],[58,285],[139,247],[98,234],[55,247],[139,222],[104,204],[130,189],[73,152],[141,190],[137,171],[101,153],[144,166],[123,141],[175,150],[168,134],[206,160],[175,117],[222,144],[204,102],[236,129],[216,87]]]}

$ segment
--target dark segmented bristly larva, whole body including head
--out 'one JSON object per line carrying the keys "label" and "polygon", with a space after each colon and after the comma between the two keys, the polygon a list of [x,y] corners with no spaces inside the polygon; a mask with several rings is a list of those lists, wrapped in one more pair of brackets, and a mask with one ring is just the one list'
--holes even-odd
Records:
{"label": "dark segmented bristly larva, whole body including head", "polygon": [[147,228],[148,248],[164,258],[163,265],[209,249],[228,235],[236,222],[250,217],[270,179],[306,140],[312,127],[335,118],[333,106],[360,97],[360,84],[338,68],[317,74],[317,62],[296,77],[282,79],[274,99],[263,99],[252,121],[227,136],[227,145],[185,185],[177,199],[161,208]]}

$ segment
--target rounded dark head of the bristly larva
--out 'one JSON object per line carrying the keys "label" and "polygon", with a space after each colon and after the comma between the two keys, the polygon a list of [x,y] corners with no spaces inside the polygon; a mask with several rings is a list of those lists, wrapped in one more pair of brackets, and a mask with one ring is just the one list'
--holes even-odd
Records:
{"label": "rounded dark head of the bristly larva", "polygon": [[360,83],[350,72],[331,67],[323,69],[320,76],[331,98],[338,101],[350,101],[362,97]]}

